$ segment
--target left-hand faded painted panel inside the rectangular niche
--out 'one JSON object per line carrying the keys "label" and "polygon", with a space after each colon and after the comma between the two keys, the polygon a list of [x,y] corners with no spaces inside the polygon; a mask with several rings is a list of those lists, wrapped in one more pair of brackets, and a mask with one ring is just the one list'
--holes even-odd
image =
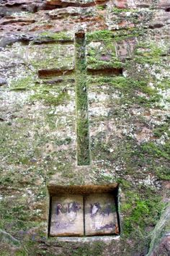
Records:
{"label": "left-hand faded painted panel inside the rectangular niche", "polygon": [[81,195],[53,197],[50,236],[83,236],[83,212]]}

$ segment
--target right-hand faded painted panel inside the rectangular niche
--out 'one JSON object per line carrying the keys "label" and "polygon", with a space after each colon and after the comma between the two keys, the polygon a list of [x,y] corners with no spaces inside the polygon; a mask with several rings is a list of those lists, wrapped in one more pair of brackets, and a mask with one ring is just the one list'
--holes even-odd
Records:
{"label": "right-hand faded painted panel inside the rectangular niche", "polygon": [[86,236],[117,234],[115,198],[111,194],[94,194],[85,197]]}

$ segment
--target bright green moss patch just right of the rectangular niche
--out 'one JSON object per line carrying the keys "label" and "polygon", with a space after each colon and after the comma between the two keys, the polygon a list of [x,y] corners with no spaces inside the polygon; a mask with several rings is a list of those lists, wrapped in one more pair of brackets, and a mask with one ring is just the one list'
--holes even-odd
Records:
{"label": "bright green moss patch just right of the rectangular niche", "polygon": [[129,236],[137,233],[145,235],[148,226],[155,226],[161,216],[164,203],[154,189],[139,188],[138,192],[127,191],[127,202],[121,205],[120,211],[125,213],[122,223],[122,234]]}

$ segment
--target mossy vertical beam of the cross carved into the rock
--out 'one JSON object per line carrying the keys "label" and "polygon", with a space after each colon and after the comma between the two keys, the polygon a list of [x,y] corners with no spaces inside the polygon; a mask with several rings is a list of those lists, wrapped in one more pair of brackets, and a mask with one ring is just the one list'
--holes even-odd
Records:
{"label": "mossy vertical beam of the cross carved into the rock", "polygon": [[86,85],[86,39],[84,32],[76,33],[75,48],[77,164],[78,166],[89,166],[89,116]]}

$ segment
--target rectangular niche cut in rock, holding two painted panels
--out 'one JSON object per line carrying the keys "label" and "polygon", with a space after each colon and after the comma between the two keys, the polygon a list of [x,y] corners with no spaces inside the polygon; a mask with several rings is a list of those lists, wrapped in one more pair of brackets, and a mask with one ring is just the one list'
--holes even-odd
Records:
{"label": "rectangular niche cut in rock, holding two painted panels", "polygon": [[99,236],[120,233],[117,184],[48,187],[48,236]]}

